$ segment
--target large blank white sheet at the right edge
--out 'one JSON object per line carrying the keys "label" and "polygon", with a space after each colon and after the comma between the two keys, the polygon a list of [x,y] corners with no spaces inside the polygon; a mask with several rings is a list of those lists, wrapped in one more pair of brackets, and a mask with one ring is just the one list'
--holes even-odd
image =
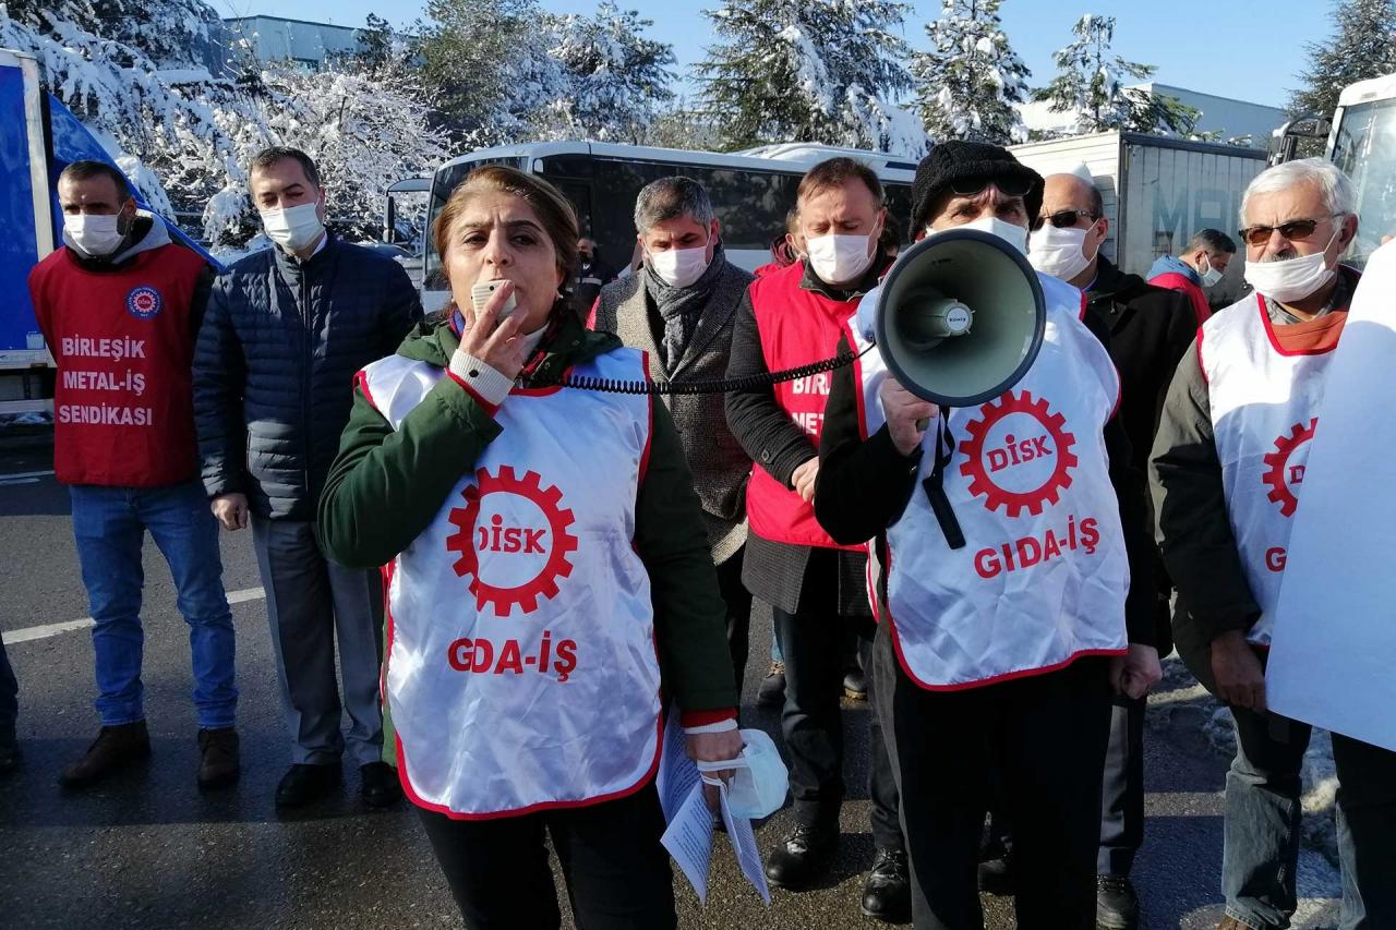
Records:
{"label": "large blank white sheet at the right edge", "polygon": [[1396,750],[1396,243],[1368,261],[1335,352],[1266,698],[1284,716]]}

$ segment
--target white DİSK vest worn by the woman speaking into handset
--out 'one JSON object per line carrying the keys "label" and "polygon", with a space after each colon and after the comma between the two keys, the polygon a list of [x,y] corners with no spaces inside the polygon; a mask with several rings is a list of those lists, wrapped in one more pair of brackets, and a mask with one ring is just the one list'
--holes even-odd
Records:
{"label": "white D\u0130SK vest worn by the woman speaking into handset", "polygon": [[[574,373],[646,380],[632,349]],[[398,429],[445,373],[391,356],[363,377]],[[651,398],[515,390],[496,422],[389,567],[398,765],[415,803],[456,818],[609,800],[659,760],[649,575],[631,543]]]}

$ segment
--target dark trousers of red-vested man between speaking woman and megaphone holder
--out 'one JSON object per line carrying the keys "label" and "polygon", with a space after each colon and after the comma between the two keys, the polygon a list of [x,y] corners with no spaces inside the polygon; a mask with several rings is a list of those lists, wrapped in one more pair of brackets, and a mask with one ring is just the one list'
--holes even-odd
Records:
{"label": "dark trousers of red-vested man between speaking woman and megaphone holder", "polygon": [[[836,571],[810,571],[800,602],[835,605],[836,585]],[[785,654],[786,702],[780,730],[790,755],[790,793],[794,797],[796,817],[801,822],[838,824],[845,795],[843,715],[839,698],[843,695],[843,674],[849,658],[847,633],[852,627],[863,638],[871,638],[875,624],[871,617],[845,617],[832,607],[800,613],[773,607],[772,614],[776,638]],[[866,677],[868,700],[872,701],[875,687],[871,676]],[[896,779],[878,715],[870,716],[872,758],[868,797],[872,802],[872,842],[878,849],[902,849]]]}

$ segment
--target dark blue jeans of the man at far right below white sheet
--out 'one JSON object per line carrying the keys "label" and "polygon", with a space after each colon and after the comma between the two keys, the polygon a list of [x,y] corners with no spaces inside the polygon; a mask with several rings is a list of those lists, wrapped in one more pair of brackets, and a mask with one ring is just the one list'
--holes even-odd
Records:
{"label": "dark blue jeans of the man at far right below white sheet", "polygon": [[[1231,708],[1237,753],[1226,778],[1226,912],[1256,930],[1289,927],[1300,852],[1307,723]],[[1396,753],[1333,733],[1342,930],[1396,927]]]}

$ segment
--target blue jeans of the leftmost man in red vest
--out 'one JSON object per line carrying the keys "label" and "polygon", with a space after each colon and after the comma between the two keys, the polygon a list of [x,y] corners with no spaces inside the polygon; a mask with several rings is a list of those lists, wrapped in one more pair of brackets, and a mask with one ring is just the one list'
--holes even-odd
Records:
{"label": "blue jeans of the leftmost man in red vest", "polygon": [[218,524],[201,482],[172,487],[75,485],[73,535],[96,626],[96,709],[102,726],[145,719],[141,705],[141,545],[145,531],[169,563],[188,623],[194,707],[202,729],[233,725],[233,616],[223,595]]}

